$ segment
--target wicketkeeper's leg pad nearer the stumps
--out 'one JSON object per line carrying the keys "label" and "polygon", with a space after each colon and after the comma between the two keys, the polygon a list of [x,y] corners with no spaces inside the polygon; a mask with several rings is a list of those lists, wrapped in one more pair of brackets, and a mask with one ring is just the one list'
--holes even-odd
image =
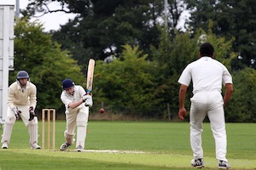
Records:
{"label": "wicketkeeper's leg pad nearer the stumps", "polygon": [[28,122],[28,133],[30,144],[38,144],[38,117],[35,116],[32,121]]}

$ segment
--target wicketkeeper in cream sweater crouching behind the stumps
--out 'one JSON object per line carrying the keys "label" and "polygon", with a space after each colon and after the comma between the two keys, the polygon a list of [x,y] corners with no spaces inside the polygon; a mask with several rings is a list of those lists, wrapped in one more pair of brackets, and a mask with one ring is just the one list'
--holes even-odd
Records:
{"label": "wicketkeeper in cream sweater crouching behind the stumps", "polygon": [[2,135],[2,149],[8,149],[11,133],[17,119],[22,119],[28,127],[31,149],[41,149],[38,146],[38,117],[35,116],[37,105],[37,88],[29,81],[26,71],[19,71],[17,81],[9,86],[7,116]]}

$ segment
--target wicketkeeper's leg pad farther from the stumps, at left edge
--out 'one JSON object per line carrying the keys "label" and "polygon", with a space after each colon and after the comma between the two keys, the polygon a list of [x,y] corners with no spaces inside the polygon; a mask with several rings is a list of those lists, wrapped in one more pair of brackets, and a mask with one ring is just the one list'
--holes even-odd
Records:
{"label": "wicketkeeper's leg pad farther from the stumps, at left edge", "polygon": [[15,117],[14,116],[7,116],[3,126],[3,134],[1,142],[7,142],[9,144],[10,137],[12,135],[13,127],[15,124]]}

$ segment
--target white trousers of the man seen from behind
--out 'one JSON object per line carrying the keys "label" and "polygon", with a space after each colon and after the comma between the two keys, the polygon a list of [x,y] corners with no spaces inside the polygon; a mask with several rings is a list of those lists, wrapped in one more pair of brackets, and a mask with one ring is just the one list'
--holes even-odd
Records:
{"label": "white trousers of the man seen from behind", "polygon": [[218,91],[198,92],[190,101],[190,144],[194,158],[203,158],[203,149],[201,147],[202,122],[208,115],[215,139],[216,158],[228,161],[226,159],[227,136],[222,95]]}

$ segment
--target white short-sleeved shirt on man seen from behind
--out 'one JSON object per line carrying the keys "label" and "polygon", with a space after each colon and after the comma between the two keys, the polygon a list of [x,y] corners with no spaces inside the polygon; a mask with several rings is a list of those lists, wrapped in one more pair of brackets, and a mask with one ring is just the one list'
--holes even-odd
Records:
{"label": "white short-sleeved shirt on man seen from behind", "polygon": [[232,83],[228,69],[211,57],[201,57],[187,65],[178,81],[189,86],[193,82],[193,94],[199,91],[221,92],[222,84]]}

